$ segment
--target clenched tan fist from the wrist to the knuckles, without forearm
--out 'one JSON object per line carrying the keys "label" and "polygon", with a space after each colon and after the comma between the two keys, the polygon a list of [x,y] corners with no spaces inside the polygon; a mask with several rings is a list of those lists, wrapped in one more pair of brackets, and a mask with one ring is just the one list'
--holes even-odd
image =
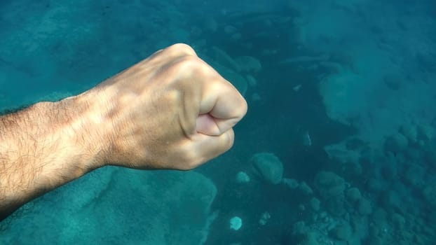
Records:
{"label": "clenched tan fist from the wrist to the knuckles, without forearm", "polygon": [[[189,45],[176,44],[74,100],[98,165],[192,169],[229,150],[247,102]],[[100,167],[100,166],[98,166]]]}

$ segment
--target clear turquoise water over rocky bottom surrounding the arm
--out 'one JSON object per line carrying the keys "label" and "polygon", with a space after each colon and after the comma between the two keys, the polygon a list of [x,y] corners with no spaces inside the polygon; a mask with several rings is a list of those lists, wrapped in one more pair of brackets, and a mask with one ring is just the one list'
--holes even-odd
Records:
{"label": "clear turquoise water over rocky bottom surrounding the arm", "polygon": [[2,111],[180,42],[249,111],[210,163],[98,169],[0,223],[0,244],[436,244],[435,16],[433,1],[1,1]]}

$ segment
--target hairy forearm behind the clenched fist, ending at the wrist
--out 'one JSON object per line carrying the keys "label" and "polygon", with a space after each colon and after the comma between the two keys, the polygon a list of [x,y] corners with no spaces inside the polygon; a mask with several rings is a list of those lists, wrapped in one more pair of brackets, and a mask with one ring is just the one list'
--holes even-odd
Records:
{"label": "hairy forearm behind the clenched fist, ending at the wrist", "polygon": [[0,220],[94,166],[84,122],[73,121],[83,109],[70,103],[42,102],[0,117]]}

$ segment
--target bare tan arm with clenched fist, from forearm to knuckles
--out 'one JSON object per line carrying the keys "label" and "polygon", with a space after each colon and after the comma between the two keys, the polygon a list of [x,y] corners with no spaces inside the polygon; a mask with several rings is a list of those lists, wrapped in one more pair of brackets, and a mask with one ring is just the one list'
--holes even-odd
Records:
{"label": "bare tan arm with clenched fist, from forearm to knuckles", "polygon": [[104,167],[188,170],[233,145],[247,103],[176,44],[60,102],[0,117],[0,220]]}

